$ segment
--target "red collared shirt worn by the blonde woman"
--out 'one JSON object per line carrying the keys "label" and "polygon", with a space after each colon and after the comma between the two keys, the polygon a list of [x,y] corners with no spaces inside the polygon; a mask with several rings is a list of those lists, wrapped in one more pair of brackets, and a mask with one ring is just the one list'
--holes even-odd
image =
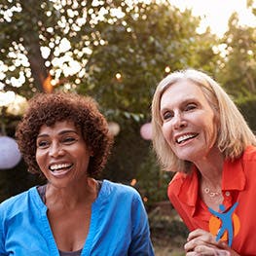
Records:
{"label": "red collared shirt worn by the blonde woman", "polygon": [[[240,255],[256,255],[256,147],[249,146],[235,162],[225,161],[222,177],[223,204],[226,209],[236,201],[240,228],[232,248]],[[209,231],[212,216],[199,193],[198,170],[178,172],[168,186],[168,197],[190,231]]]}

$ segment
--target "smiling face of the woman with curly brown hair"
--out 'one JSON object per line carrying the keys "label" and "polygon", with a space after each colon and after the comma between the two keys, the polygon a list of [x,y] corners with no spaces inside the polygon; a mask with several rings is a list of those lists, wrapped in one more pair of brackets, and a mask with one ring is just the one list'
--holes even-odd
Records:
{"label": "smiling face of the woman with curly brown hair", "polygon": [[42,126],[36,141],[36,162],[55,186],[64,187],[87,179],[91,151],[81,131],[71,121]]}

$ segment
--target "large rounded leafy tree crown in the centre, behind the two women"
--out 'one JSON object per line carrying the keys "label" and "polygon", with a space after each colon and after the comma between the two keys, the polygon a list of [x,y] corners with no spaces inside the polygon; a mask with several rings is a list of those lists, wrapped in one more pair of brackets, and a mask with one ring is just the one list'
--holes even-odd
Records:
{"label": "large rounded leafy tree crown in the centre, behind the two women", "polygon": [[199,68],[205,63],[201,55],[209,62],[214,57],[214,38],[201,40],[198,24],[190,11],[182,14],[167,3],[138,4],[111,25],[98,23],[106,44],[93,49],[86,66],[89,76],[81,78],[77,91],[93,95],[106,109],[142,112],[149,118],[150,101],[166,66],[170,71]]}

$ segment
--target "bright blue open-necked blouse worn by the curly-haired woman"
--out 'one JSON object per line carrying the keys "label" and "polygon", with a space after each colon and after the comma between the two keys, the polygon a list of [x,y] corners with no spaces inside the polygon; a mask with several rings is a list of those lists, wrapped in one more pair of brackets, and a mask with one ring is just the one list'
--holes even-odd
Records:
{"label": "bright blue open-necked blouse worn by the curly-haired woman", "polygon": [[[0,204],[0,255],[58,256],[36,187]],[[133,188],[104,180],[91,206],[82,256],[154,255],[146,211]]]}

